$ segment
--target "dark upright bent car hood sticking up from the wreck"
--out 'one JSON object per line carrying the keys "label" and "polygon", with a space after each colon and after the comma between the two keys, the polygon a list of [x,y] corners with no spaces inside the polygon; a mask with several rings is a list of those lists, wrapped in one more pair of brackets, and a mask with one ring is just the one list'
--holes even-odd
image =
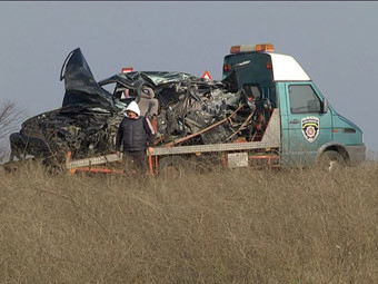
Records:
{"label": "dark upright bent car hood sticking up from the wreck", "polygon": [[66,94],[62,107],[100,107],[113,110],[111,95],[96,80],[80,48],[66,58],[60,80],[64,79]]}

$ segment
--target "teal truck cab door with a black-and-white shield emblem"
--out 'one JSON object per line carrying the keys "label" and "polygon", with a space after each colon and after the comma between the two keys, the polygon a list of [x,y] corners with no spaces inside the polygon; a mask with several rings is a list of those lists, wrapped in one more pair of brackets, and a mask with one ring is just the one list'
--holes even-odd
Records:
{"label": "teal truck cab door with a black-and-white shield emblem", "polygon": [[324,98],[312,82],[287,84],[288,157],[291,163],[308,165],[318,148],[331,140],[332,116],[322,110]]}

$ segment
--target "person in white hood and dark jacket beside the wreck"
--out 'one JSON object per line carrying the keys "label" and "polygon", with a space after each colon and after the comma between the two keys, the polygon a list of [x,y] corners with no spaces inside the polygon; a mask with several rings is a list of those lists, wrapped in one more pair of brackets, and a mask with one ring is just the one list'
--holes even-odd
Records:
{"label": "person in white hood and dark jacket beside the wreck", "polygon": [[140,115],[139,106],[131,101],[126,108],[126,116],[119,125],[116,150],[120,157],[120,148],[123,146],[126,163],[132,163],[139,170],[147,170],[146,150],[153,151],[152,143],[156,133],[150,120]]}

